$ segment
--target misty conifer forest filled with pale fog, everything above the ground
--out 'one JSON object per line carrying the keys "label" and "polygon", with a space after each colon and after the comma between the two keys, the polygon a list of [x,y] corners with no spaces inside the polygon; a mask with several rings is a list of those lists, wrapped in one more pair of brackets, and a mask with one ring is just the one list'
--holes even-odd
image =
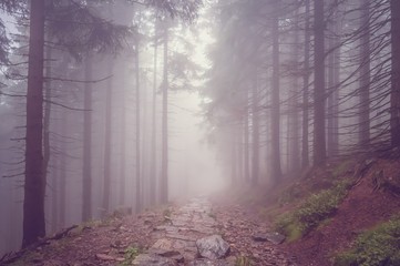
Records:
{"label": "misty conifer forest filled with pale fog, everything above the ground", "polygon": [[324,2],[1,3],[0,254],[398,145],[393,1]]}

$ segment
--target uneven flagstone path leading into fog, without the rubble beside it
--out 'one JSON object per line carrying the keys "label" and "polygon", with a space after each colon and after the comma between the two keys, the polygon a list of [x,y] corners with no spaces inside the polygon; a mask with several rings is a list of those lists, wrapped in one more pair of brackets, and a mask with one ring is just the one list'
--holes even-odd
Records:
{"label": "uneven flagstone path leading into fog, without the rubble beside it", "polygon": [[[229,245],[218,235],[211,203],[203,197],[165,215],[165,224],[154,228],[153,246],[133,262],[139,266],[229,266]],[[202,257],[203,256],[203,257]]]}

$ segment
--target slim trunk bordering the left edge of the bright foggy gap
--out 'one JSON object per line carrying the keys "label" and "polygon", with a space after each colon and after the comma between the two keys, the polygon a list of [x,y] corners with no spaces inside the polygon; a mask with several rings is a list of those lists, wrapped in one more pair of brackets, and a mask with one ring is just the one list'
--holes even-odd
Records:
{"label": "slim trunk bordering the left edge of the bright foggy gap", "polygon": [[168,27],[164,32],[161,202],[168,201]]}

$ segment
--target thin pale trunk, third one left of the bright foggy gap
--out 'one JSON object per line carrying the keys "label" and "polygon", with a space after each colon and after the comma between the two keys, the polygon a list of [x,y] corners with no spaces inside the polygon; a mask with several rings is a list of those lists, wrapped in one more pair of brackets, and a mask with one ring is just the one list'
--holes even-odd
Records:
{"label": "thin pale trunk, third one left of the bright foggy gap", "polygon": [[142,187],[141,187],[141,90],[140,90],[140,69],[139,69],[139,41],[135,47],[135,71],[136,71],[136,213],[142,208]]}

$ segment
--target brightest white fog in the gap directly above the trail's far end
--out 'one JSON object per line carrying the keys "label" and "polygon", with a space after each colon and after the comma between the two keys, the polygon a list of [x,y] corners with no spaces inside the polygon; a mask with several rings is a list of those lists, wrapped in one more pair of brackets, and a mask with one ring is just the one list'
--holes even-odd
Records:
{"label": "brightest white fog in the gap directly above the trail's far end", "polygon": [[172,198],[220,191],[228,180],[224,178],[215,150],[207,142],[199,96],[183,92],[171,102]]}

